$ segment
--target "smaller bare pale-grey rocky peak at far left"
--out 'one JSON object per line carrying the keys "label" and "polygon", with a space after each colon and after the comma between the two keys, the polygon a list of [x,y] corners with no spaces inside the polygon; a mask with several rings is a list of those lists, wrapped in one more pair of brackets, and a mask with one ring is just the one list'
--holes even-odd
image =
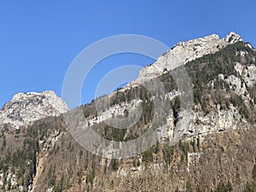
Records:
{"label": "smaller bare pale-grey rocky peak at far left", "polygon": [[0,125],[19,128],[48,116],[58,116],[68,111],[67,104],[54,91],[18,93],[0,110]]}

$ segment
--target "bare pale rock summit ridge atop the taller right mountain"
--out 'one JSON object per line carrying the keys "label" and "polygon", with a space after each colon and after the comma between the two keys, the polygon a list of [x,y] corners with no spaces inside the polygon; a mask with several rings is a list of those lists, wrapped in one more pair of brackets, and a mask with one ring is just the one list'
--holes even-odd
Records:
{"label": "bare pale rock summit ridge atop the taller right mountain", "polygon": [[218,35],[212,34],[204,38],[180,42],[168,50],[166,54],[161,55],[152,65],[144,67],[140,71],[138,79],[131,82],[131,84],[158,77],[165,71],[171,71],[203,55],[213,54],[219,49],[238,41],[242,41],[241,37],[235,32],[230,32],[225,38],[218,38]]}

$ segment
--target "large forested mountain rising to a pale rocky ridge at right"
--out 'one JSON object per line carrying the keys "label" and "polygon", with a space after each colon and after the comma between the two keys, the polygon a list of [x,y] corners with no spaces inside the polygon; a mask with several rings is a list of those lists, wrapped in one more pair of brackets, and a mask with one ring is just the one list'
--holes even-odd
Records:
{"label": "large forested mountain rising to a pale rocky ridge at right", "polygon": [[[189,82],[175,79],[183,68]],[[191,86],[191,93],[180,84]],[[3,126],[0,187],[48,192],[256,191],[255,93],[256,51],[235,32],[179,43],[109,96],[20,129]],[[3,108],[5,113],[15,108],[8,107],[12,105]],[[115,128],[127,125],[131,127]],[[92,135],[83,137],[90,128],[116,142],[90,143],[104,158],[82,147],[94,142]],[[124,148],[126,154],[140,148],[130,141],[151,131],[157,136],[142,140],[150,148],[118,158]]]}

